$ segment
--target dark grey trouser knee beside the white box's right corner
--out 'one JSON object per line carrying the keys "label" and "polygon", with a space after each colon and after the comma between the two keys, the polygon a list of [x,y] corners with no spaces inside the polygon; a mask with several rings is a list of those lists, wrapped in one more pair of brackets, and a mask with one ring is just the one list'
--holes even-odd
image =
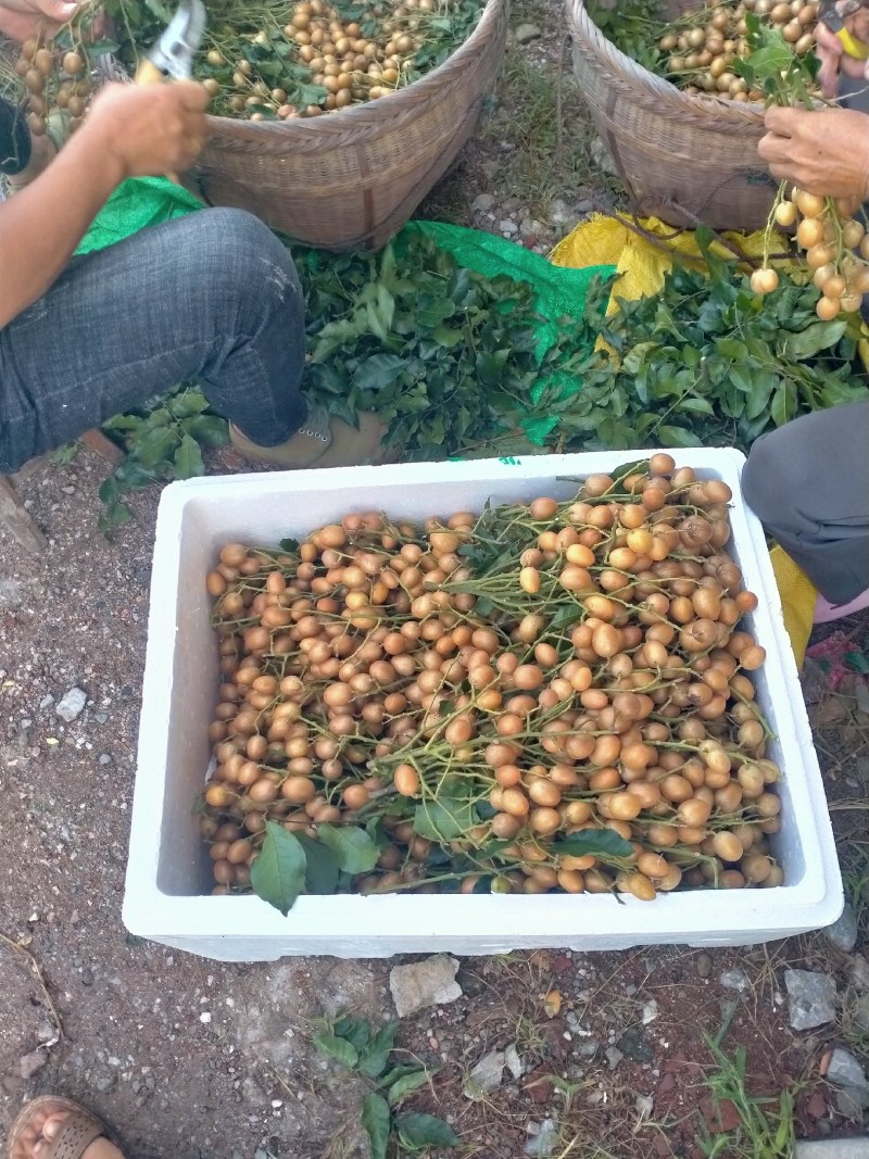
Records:
{"label": "dark grey trouser knee beside the white box's right corner", "polygon": [[748,454],[743,494],[831,604],[869,588],[869,400],[764,435]]}

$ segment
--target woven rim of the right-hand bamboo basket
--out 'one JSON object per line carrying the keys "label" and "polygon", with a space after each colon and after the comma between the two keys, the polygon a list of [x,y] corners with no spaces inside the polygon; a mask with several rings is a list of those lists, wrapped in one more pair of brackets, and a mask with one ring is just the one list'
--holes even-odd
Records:
{"label": "woven rim of the right-hand bamboo basket", "polygon": [[[711,96],[707,93],[692,95],[684,93],[671,85],[664,76],[651,72],[644,65],[633,60],[621,49],[616,48],[600,31],[591,19],[583,0],[568,0],[568,20],[574,32],[574,48],[583,53],[590,61],[598,61],[603,58],[609,71],[621,74],[621,79],[637,88],[651,90],[652,94],[665,105],[670,107],[670,112],[676,115],[676,119],[686,118],[699,119],[698,110],[703,115],[711,115],[715,121],[725,121],[732,127],[733,122],[742,121],[745,127],[757,129],[758,122],[762,124],[766,108],[759,101],[731,101],[724,96]],[[708,117],[704,117],[708,121]],[[711,127],[715,127],[713,124]]]}

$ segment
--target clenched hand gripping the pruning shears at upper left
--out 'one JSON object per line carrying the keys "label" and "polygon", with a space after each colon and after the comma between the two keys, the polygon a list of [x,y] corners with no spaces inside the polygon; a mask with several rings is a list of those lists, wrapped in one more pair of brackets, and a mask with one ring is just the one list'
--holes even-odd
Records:
{"label": "clenched hand gripping the pruning shears at upper left", "polygon": [[190,167],[205,139],[209,94],[196,81],[107,85],[78,137],[98,139],[115,156],[121,180],[159,176]]}

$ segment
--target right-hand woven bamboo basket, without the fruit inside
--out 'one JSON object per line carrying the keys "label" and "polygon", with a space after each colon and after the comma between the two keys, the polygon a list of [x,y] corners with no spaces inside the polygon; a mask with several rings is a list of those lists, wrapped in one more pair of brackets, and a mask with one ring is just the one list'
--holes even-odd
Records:
{"label": "right-hand woven bamboo basket, without the fruit inside", "polygon": [[[764,107],[691,96],[620,52],[583,0],[565,0],[574,68],[635,212],[674,226],[764,225],[775,183],[757,154]],[[667,0],[673,19],[700,0]]]}

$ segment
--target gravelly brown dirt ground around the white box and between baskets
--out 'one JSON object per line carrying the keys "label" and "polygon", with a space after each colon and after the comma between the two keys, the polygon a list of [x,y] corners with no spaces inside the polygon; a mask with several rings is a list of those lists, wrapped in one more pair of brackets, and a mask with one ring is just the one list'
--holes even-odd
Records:
{"label": "gravelly brown dirt ground around the white box and between baskets", "polygon": [[[577,216],[612,203],[613,189],[590,161],[557,7],[526,7],[512,24],[521,22],[542,35],[511,46],[509,85],[421,216],[502,233],[504,220],[527,220],[519,240],[546,248]],[[556,107],[570,112],[560,134]],[[491,204],[473,209],[481,195]],[[240,466],[226,454],[210,464]],[[366,1088],[320,1057],[311,1033],[344,1008],[394,1018],[394,961],[227,965],[132,939],[121,924],[159,488],[133,497],[134,522],[108,542],[96,532],[107,469],[82,450],[20,482],[49,537],[44,556],[0,530],[0,1135],[25,1099],[61,1092],[117,1124],[137,1159],[364,1156]],[[806,697],[857,917],[854,952],[813,934],[708,954],[462,960],[462,997],[404,1019],[399,1037],[441,1067],[408,1106],[453,1124],[462,1142],[452,1153],[775,1159],[753,1150],[757,1138],[702,1142],[738,1125],[735,1102],[713,1101],[721,1066],[703,1040],[724,1023],[728,1057],[747,1051],[745,1106],[775,1122],[780,1093],[794,1088],[797,1136],[862,1130],[821,1078],[834,1045],[869,1062],[854,1013],[869,969],[855,956],[869,934],[869,706],[841,661],[869,651],[869,617],[837,628],[846,642],[826,633],[835,655],[810,664]],[[74,687],[87,705],[65,722],[56,708]],[[788,967],[835,979],[834,1022],[790,1028]],[[466,1098],[468,1071],[509,1047],[520,1073],[505,1072],[480,1101]]]}

